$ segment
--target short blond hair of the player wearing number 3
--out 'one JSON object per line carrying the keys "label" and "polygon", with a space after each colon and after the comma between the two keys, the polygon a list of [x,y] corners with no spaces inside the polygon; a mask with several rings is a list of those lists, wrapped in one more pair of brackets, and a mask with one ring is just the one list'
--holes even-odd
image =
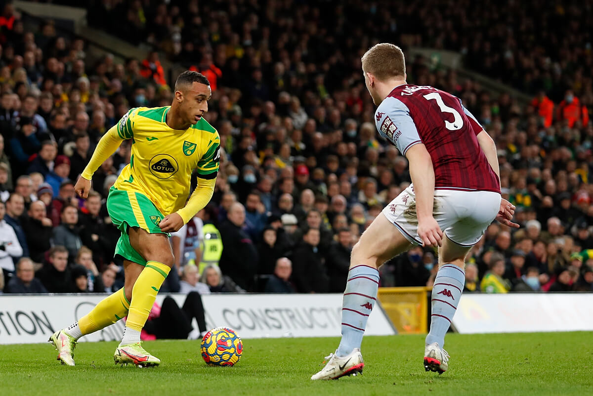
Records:
{"label": "short blond hair of the player wearing number 3", "polygon": [[406,75],[406,59],[401,48],[390,43],[375,44],[362,56],[362,70],[378,80]]}

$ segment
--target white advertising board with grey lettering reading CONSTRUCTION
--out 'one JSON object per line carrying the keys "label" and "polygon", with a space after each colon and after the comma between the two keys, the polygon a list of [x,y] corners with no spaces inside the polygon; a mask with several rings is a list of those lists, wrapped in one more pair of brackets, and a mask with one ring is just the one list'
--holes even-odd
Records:
{"label": "white advertising board with grey lettering reading CONSTRUCTION", "polygon": [[[45,342],[53,331],[91,311],[104,296],[0,295],[0,344]],[[170,296],[183,305],[184,295]],[[159,295],[157,301],[164,298]],[[206,327],[230,327],[242,338],[340,336],[341,294],[217,294],[204,295],[202,301]],[[81,341],[119,340],[124,325],[119,321]],[[395,333],[381,307],[375,306],[365,334]]]}

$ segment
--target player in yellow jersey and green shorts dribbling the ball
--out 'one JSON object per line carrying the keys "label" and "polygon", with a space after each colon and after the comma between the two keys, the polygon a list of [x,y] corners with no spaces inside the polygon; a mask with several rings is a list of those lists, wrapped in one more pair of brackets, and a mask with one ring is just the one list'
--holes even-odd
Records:
{"label": "player in yellow jersey and green shorts dribbling the ball", "polygon": [[[220,137],[203,118],[211,95],[205,76],[181,73],[171,106],[128,111],[101,138],[78,178],[74,189],[86,198],[95,170],[123,140],[132,140],[130,163],[107,197],[109,216],[122,232],[115,254],[123,258],[125,286],[50,337],[63,364],[74,366],[78,338],[126,316],[123,338],[114,354],[116,364],[160,364],[142,348],[140,331],[174,264],[169,233],[178,231],[206,206],[214,191]],[[198,175],[197,187],[187,200],[193,170]]]}

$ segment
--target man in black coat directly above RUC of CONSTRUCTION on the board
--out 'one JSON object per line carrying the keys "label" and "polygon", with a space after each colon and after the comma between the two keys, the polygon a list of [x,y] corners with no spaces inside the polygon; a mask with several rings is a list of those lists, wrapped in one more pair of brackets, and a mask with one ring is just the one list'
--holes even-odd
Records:
{"label": "man in black coat directly above RUC of CONSTRUCTION on the board", "polygon": [[301,244],[292,253],[291,261],[295,263],[292,280],[300,293],[326,293],[329,290],[325,259],[318,248],[320,239],[318,228],[308,228],[302,235]]}

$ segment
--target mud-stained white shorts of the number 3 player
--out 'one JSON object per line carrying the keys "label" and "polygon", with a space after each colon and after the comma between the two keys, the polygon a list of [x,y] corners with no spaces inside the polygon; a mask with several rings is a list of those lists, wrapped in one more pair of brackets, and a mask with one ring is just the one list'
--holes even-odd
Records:
{"label": "mud-stained white shorts of the number 3 player", "polygon": [[[480,240],[499,209],[500,194],[494,191],[436,189],[432,215],[447,238],[471,247]],[[408,241],[422,245],[412,184],[384,207],[383,215]]]}

